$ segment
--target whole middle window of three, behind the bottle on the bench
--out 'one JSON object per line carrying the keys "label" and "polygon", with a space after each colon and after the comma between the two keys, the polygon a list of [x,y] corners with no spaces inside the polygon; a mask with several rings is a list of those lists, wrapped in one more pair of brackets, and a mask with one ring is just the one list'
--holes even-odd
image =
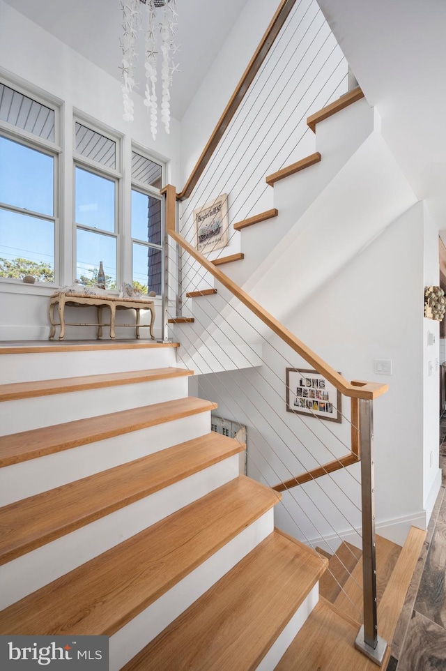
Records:
{"label": "whole middle window of three, behind the bottle on the bench", "polygon": [[116,289],[118,255],[117,140],[75,122],[76,277],[93,285],[100,262],[107,289]]}

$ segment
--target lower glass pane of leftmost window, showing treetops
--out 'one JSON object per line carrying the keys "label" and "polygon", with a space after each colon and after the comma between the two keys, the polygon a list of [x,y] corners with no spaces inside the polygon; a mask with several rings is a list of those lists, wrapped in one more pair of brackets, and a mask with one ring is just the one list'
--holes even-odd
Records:
{"label": "lower glass pane of leftmost window, showing treetops", "polygon": [[54,222],[0,209],[0,276],[54,282]]}

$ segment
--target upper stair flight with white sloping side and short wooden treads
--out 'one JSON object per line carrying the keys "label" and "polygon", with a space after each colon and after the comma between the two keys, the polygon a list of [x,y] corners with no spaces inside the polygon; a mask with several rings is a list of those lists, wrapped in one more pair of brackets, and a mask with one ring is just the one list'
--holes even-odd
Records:
{"label": "upper stair flight with white sloping side and short wooden treads", "polygon": [[[282,323],[417,201],[361,89],[312,114],[307,124],[316,133],[316,151],[265,176],[274,208],[234,223],[240,253],[228,256],[223,249],[211,262]],[[210,284],[217,295],[202,293]],[[268,329],[245,319],[244,308],[209,273],[186,289],[184,314],[194,323],[174,325],[186,365],[203,373],[259,365],[258,334],[268,338]],[[235,352],[229,347],[234,339]]]}

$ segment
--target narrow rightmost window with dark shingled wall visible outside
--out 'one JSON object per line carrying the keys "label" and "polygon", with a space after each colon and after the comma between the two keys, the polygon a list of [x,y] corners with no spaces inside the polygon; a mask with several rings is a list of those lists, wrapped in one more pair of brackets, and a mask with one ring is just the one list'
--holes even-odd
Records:
{"label": "narrow rightmost window with dark shingled wall visible outside", "polygon": [[162,293],[162,204],[151,194],[160,188],[162,166],[132,151],[133,285],[143,292]]}

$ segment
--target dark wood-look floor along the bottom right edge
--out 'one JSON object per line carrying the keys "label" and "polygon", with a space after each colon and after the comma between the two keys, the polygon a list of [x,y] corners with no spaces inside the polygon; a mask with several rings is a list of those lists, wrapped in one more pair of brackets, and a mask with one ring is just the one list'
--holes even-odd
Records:
{"label": "dark wood-look floor along the bottom right edge", "polygon": [[392,641],[387,671],[446,671],[446,414],[440,420],[440,488]]}

